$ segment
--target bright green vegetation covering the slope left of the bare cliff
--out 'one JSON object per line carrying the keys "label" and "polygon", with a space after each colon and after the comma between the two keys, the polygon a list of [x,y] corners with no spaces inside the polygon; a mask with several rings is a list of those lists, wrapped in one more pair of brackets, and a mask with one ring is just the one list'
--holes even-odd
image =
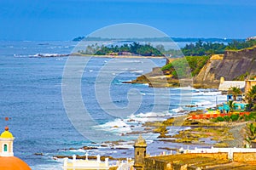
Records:
{"label": "bright green vegetation covering the slope left of the bare cliff", "polygon": [[210,59],[209,56],[187,56],[173,60],[171,63],[164,65],[161,70],[168,71],[173,78],[178,78],[186,77],[189,69],[192,77],[194,77],[201,71],[208,59]]}

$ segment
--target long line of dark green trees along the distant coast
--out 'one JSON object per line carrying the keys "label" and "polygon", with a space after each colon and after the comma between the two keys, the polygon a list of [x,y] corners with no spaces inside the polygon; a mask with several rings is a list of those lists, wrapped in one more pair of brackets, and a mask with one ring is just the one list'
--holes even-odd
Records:
{"label": "long line of dark green trees along the distant coast", "polygon": [[228,44],[223,42],[203,42],[199,40],[198,42],[191,42],[186,44],[185,47],[180,50],[168,49],[162,45],[156,45],[153,47],[148,44],[141,44],[139,42],[132,42],[130,44],[123,45],[111,45],[111,46],[98,46],[97,44],[89,45],[86,47],[85,51],[80,50],[81,54],[96,54],[96,55],[107,55],[115,54],[122,55],[130,53],[132,55],[142,55],[142,56],[163,56],[168,55],[172,57],[180,56],[204,56],[211,54],[224,54],[225,50],[239,50],[243,48],[251,48],[256,45],[256,40],[247,41],[233,41]]}

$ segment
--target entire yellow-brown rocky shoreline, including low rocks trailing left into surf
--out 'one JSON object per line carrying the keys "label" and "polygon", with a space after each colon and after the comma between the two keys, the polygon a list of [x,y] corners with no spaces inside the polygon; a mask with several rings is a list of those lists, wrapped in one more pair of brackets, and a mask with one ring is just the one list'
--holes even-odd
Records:
{"label": "entire yellow-brown rocky shoreline, including low rocks trailing left into surf", "polygon": [[[166,143],[165,146],[157,147],[158,150],[173,150],[177,151],[178,146],[192,144],[202,147],[243,147],[245,128],[247,122],[211,122],[210,120],[191,120],[188,119],[192,114],[202,114],[203,111],[190,111],[189,114],[166,119],[166,121],[144,122],[143,130],[137,133],[159,133],[156,141]],[[177,132],[170,134],[172,127],[183,127]],[[184,128],[188,127],[188,128]],[[177,128],[178,129],[178,128]],[[106,141],[99,146],[83,146],[81,148],[69,148],[64,150],[99,150],[100,147],[108,148],[109,150],[130,150],[131,148],[122,147],[124,140]],[[132,143],[132,141],[131,141]],[[169,148],[168,143],[177,144],[177,148]],[[172,147],[172,146],[171,146]],[[35,154],[43,156],[43,153]],[[70,155],[55,155],[54,159],[61,159]],[[108,157],[112,161],[125,160],[124,157],[101,156],[102,161]],[[85,156],[77,155],[78,159],[85,159]],[[89,156],[89,159],[96,159],[96,156]]]}

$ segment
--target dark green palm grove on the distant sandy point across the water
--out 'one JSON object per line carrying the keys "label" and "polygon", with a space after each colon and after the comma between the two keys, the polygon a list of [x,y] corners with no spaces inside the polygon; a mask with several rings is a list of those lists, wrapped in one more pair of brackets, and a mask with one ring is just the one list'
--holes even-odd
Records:
{"label": "dark green palm grove on the distant sandy point across the water", "polygon": [[124,44],[121,46],[104,46],[96,52],[96,55],[106,55],[106,54],[122,54],[122,53],[131,53],[142,56],[163,56],[159,50],[150,46],[149,44],[140,44],[133,42],[131,44]]}

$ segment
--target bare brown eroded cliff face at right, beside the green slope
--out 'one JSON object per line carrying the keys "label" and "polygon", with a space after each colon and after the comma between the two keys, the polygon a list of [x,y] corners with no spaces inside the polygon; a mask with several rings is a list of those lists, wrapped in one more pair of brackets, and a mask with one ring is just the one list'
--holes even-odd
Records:
{"label": "bare brown eroded cliff face at right, beside the green slope", "polygon": [[220,77],[234,80],[243,74],[256,75],[256,47],[239,51],[225,51],[224,55],[212,55],[211,59],[194,77],[195,87],[218,88]]}

